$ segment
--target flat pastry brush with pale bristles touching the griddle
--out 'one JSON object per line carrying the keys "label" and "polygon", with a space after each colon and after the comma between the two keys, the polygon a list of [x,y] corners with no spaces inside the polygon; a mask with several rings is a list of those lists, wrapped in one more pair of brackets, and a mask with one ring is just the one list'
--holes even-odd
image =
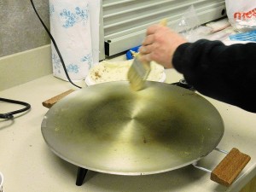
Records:
{"label": "flat pastry brush with pale bristles touching the griddle", "polygon": [[[166,26],[167,20],[161,20],[160,25]],[[138,53],[127,73],[128,80],[130,81],[131,90],[143,90],[145,88],[145,82],[150,73],[150,62],[140,61],[141,54]]]}

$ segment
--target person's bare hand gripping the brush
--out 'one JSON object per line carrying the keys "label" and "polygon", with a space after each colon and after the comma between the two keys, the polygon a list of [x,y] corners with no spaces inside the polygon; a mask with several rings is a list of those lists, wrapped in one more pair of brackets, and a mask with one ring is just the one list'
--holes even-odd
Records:
{"label": "person's bare hand gripping the brush", "polygon": [[149,26],[142,47],[141,61],[155,61],[166,68],[172,68],[172,57],[180,44],[187,40],[166,26]]}

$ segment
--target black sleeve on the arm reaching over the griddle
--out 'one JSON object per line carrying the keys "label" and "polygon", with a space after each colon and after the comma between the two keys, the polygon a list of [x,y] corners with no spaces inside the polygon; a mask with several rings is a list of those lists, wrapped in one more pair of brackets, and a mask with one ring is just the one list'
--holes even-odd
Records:
{"label": "black sleeve on the arm reaching over the griddle", "polygon": [[180,45],[172,63],[201,94],[256,113],[256,44],[201,39]]}

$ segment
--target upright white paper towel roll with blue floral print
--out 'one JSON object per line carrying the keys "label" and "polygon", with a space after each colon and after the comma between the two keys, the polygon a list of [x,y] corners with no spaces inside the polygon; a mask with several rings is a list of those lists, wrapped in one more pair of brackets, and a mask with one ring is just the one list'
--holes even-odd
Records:
{"label": "upright white paper towel roll with blue floral print", "polygon": [[[49,0],[50,32],[60,49],[70,79],[85,79],[93,64],[89,3],[86,0]],[[67,80],[53,46],[55,77]]]}

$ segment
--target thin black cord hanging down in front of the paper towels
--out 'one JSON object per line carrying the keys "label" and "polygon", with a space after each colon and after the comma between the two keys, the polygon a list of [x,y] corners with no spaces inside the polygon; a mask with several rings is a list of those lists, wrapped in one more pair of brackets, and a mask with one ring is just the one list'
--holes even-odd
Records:
{"label": "thin black cord hanging down in front of the paper towels", "polygon": [[77,84],[74,84],[73,81],[69,78],[69,75],[68,75],[68,73],[67,73],[67,68],[66,68],[65,63],[64,63],[64,60],[63,60],[63,58],[62,58],[62,56],[61,56],[61,52],[60,52],[60,50],[59,50],[57,44],[55,43],[55,38],[53,38],[53,36],[52,36],[51,33],[49,32],[49,29],[47,28],[47,26],[45,26],[44,21],[43,21],[43,20],[41,19],[41,17],[38,15],[38,11],[37,11],[37,9],[35,8],[35,5],[34,5],[33,1],[30,0],[30,2],[31,2],[31,4],[32,4],[32,8],[34,9],[36,15],[38,16],[38,19],[41,21],[42,25],[44,26],[45,31],[48,33],[49,38],[50,38],[51,41],[52,41],[52,44],[54,44],[54,46],[55,46],[55,49],[56,49],[56,51],[57,51],[57,54],[58,54],[59,57],[60,57],[61,65],[62,65],[62,67],[63,67],[63,69],[64,69],[64,72],[65,72],[65,74],[66,74],[66,76],[67,76],[68,81],[69,81],[71,84],[73,84],[74,86],[76,86],[76,87],[78,87],[78,88],[81,89],[82,87],[80,87],[80,86],[77,85]]}

